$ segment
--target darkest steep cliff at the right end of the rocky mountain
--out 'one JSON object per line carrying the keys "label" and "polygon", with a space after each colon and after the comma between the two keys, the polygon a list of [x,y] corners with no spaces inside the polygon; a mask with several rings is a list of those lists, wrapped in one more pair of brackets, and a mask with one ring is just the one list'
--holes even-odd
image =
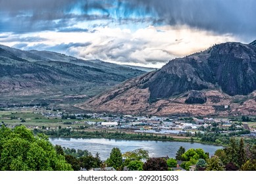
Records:
{"label": "darkest steep cliff at the right end of the rocky mountain", "polygon": [[213,78],[228,95],[248,95],[256,89],[256,47],[222,43],[208,59]]}

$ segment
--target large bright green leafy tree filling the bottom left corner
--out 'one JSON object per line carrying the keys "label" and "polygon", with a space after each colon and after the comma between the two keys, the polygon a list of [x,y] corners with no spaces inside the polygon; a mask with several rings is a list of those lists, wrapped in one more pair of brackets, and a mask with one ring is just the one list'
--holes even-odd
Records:
{"label": "large bright green leafy tree filling the bottom left corner", "polygon": [[51,145],[43,134],[34,137],[24,126],[0,128],[0,170],[53,171],[72,170],[63,155]]}

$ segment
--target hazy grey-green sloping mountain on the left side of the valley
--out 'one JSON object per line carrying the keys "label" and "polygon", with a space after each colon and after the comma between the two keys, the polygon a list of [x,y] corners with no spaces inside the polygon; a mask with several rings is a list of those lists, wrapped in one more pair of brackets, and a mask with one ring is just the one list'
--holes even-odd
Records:
{"label": "hazy grey-green sloping mountain on the left side of the valley", "polygon": [[145,74],[127,66],[0,45],[0,106],[74,103]]}

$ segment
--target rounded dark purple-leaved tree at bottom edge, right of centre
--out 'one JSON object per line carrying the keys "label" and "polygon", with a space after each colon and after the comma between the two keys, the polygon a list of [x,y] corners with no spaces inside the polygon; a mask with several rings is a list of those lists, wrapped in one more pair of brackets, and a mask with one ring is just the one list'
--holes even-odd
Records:
{"label": "rounded dark purple-leaved tree at bottom edge, right of centre", "polygon": [[144,171],[167,171],[168,166],[166,160],[163,158],[149,158],[143,164]]}

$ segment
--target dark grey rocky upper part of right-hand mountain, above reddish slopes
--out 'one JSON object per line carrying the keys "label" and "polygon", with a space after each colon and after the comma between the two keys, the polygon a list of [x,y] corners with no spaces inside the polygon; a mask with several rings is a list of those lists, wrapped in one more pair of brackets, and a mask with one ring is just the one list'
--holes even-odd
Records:
{"label": "dark grey rocky upper part of right-hand mountain, above reddish slopes", "polygon": [[168,98],[190,90],[220,87],[228,95],[256,89],[256,47],[222,43],[184,58],[170,60],[144,87],[150,98]]}

